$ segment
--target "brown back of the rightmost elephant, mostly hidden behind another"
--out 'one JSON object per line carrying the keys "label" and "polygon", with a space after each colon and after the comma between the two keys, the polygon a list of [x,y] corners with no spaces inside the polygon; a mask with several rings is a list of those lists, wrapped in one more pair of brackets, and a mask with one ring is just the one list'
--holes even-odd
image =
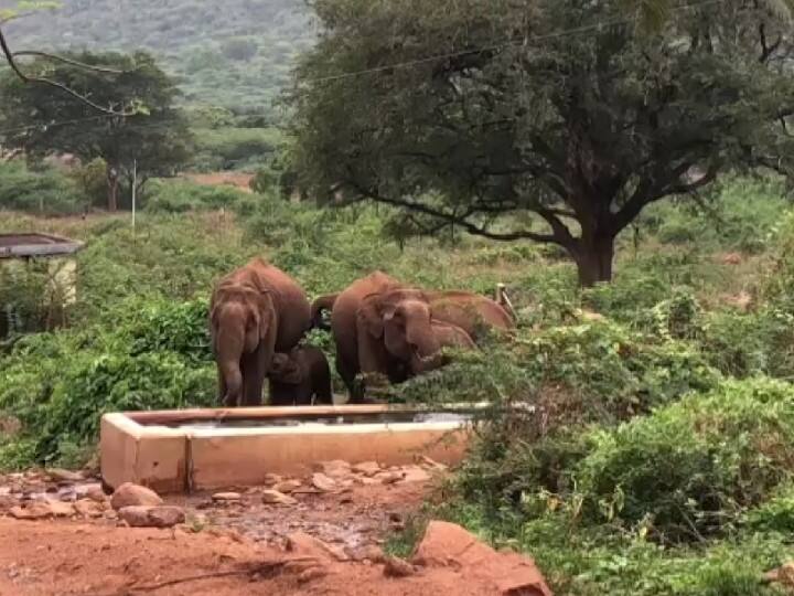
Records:
{"label": "brown back of the rightmost elephant, mostly hidden behind another", "polygon": [[490,329],[515,329],[516,321],[498,302],[461,290],[428,292],[432,317],[454,324],[465,331],[474,342],[481,340]]}

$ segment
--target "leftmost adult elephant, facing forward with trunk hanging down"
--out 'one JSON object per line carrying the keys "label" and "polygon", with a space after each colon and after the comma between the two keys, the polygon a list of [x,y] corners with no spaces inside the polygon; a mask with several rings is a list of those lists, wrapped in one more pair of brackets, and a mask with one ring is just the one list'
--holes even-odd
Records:
{"label": "leftmost adult elephant, facing forward with trunk hanging down", "polygon": [[261,405],[275,352],[289,352],[310,328],[310,305],[289,275],[261,258],[228,274],[210,302],[223,403]]}

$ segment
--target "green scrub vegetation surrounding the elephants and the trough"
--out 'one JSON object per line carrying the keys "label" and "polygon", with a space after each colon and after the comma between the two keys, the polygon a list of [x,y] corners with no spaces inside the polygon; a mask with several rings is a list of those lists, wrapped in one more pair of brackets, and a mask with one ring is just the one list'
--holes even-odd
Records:
{"label": "green scrub vegetation surrounding the elephants and the trough", "polygon": [[[0,204],[37,209],[24,177],[79,194],[61,174],[14,168]],[[712,194],[705,211],[650,210],[620,246],[614,283],[588,290],[536,244],[394,237],[399,215],[385,207],[163,181],[135,233],[124,216],[6,212],[0,232],[88,244],[67,327],[2,349],[0,411],[22,430],[0,439],[0,466],[84,460],[103,412],[213,404],[208,288],[248,256],[311,295],[374,268],[486,294],[505,281],[522,321],[514,341],[386,392],[539,408],[485,422],[434,514],[527,549],[560,594],[761,594],[761,573],[794,555],[781,533],[794,526],[794,219],[777,180],[726,179]],[[0,278],[0,301],[34,312],[22,307],[46,283],[36,275]],[[332,350],[325,333],[311,341]]]}

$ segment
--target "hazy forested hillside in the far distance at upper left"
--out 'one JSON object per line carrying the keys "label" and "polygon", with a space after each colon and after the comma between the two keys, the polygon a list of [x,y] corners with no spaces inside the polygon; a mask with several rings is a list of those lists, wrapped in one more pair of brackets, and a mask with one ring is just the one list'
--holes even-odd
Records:
{"label": "hazy forested hillside in the far distance at upper left", "polygon": [[269,105],[314,39],[303,0],[62,0],[7,29],[17,50],[151,51],[187,102],[249,111]]}

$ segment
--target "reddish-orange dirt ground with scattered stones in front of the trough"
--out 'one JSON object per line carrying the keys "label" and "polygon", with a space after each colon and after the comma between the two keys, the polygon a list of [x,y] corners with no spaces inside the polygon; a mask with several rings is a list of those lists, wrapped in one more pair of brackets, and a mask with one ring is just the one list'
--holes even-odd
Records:
{"label": "reddish-orange dirt ground with scattered stones in front of the trough", "polygon": [[[29,521],[12,519],[10,508],[3,517],[0,508],[0,596],[503,594],[493,578],[472,578],[460,566],[385,573],[384,539],[440,478],[409,475],[334,492],[302,478],[290,505],[264,503],[267,487],[238,488],[232,502],[210,493],[165,498],[184,509],[186,522],[162,530],[128,528],[111,510],[96,519]],[[75,502],[96,486],[90,477],[64,482],[42,472],[9,475],[0,477],[0,497]],[[294,546],[296,532],[320,539],[334,554],[322,550],[318,558]]]}

